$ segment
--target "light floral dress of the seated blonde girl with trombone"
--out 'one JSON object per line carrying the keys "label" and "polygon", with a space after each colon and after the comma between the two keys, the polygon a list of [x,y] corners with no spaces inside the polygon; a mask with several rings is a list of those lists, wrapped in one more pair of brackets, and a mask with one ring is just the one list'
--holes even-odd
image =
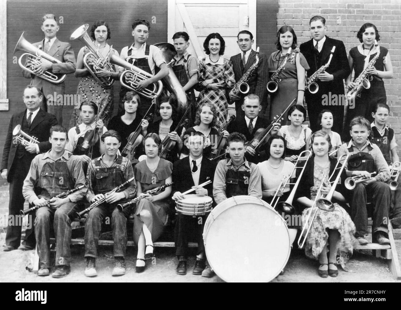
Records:
{"label": "light floral dress of the seated blonde girl with trombone", "polygon": [[[316,198],[316,192],[322,184],[323,175],[329,175],[330,164],[327,167],[321,167],[314,163],[314,186],[310,188],[311,200]],[[306,256],[314,259],[319,259],[324,246],[328,241],[328,229],[338,230],[340,238],[338,239],[338,251],[341,257],[341,265],[344,268],[344,263],[348,261],[352,255],[353,244],[356,239],[354,237],[356,228],[348,213],[338,204],[334,204],[334,211],[328,212],[318,209],[316,217],[313,221],[312,227],[308,234],[305,246]],[[312,208],[306,208],[302,212],[302,221],[306,221],[309,212]],[[315,211],[316,209],[314,209]],[[303,223],[308,224],[308,223]]]}

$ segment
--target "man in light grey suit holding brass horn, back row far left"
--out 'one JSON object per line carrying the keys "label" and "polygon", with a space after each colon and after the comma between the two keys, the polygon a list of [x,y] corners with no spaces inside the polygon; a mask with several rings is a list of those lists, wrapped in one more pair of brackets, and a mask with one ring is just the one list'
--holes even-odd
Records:
{"label": "man in light grey suit holding brass horn, back row far left", "polygon": [[[60,29],[56,21],[56,16],[46,14],[43,16],[42,22],[41,29],[45,33],[45,39],[33,43],[33,45],[35,47],[40,46],[40,49],[58,59],[61,63],[48,64],[42,62],[39,65],[34,65],[31,69],[36,73],[51,71],[57,75],[75,72],[75,54],[71,44],[61,42],[56,38],[57,31]],[[28,63],[29,61],[25,65],[29,66]],[[32,79],[30,85],[36,86],[43,92],[45,100],[41,105],[42,110],[55,115],[59,124],[63,124],[63,101],[57,98],[63,98],[62,96],[65,94],[64,82],[54,84],[25,70],[22,70],[22,75],[27,79]]]}

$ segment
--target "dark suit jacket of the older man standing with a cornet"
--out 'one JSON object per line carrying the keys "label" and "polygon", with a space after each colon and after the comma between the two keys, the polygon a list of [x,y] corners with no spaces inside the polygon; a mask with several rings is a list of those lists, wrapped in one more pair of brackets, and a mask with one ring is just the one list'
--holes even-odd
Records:
{"label": "dark suit jacket of the older man standing with a cornet", "polygon": [[[8,169],[7,181],[11,182],[12,173],[11,167],[13,163],[15,163],[15,154],[17,150],[17,144],[13,143],[13,136],[12,130],[17,125],[22,126],[22,120],[24,119],[25,109],[22,112],[16,113],[11,116],[10,123],[8,124],[8,131],[6,137],[6,143],[4,144],[3,149],[3,160],[1,164],[1,169]],[[26,132],[30,137],[34,136],[40,142],[39,145],[39,152],[44,153],[51,149],[51,144],[49,142],[49,134],[51,126],[57,125],[57,119],[53,114],[47,113],[43,110],[39,110],[38,114],[36,114],[35,118],[32,121],[30,126],[30,130]]]}

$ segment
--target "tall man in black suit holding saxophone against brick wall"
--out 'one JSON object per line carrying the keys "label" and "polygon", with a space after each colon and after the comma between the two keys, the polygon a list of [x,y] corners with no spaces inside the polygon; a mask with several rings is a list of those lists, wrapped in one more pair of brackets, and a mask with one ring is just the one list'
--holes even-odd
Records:
{"label": "tall man in black suit holding saxophone against brick wall", "polygon": [[[341,134],[345,103],[345,100],[342,100],[344,98],[343,80],[350,74],[350,67],[344,43],[327,37],[325,35],[325,24],[326,20],[322,16],[312,17],[309,21],[312,39],[300,45],[300,52],[305,56],[310,67],[310,70],[307,71],[308,77],[328,62],[330,51],[333,46],[336,47],[329,67],[318,75],[318,80],[316,81],[319,86],[318,92],[311,94],[306,90],[305,102],[308,106],[312,132],[321,129],[318,124],[320,111],[329,108],[334,116],[332,130]],[[335,96],[335,101],[332,100],[332,96]]]}

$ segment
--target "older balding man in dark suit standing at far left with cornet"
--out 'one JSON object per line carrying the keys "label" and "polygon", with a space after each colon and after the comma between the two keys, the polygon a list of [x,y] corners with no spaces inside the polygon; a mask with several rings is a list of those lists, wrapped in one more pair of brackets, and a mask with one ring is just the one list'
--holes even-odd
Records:
{"label": "older balding man in dark suit standing at far left with cornet", "polygon": [[[1,164],[1,175],[10,183],[10,200],[8,202],[8,219],[6,233],[6,245],[4,251],[12,251],[20,246],[21,224],[18,220],[20,210],[24,208],[24,196],[22,196],[22,185],[28,174],[30,163],[38,153],[43,153],[51,148],[49,142],[49,133],[51,126],[57,125],[57,119],[54,115],[41,110],[39,107],[43,100],[40,90],[34,86],[28,85],[24,89],[24,103],[26,109],[23,112],[14,114],[8,125],[6,143],[3,149],[3,160]],[[21,145],[13,137],[12,131],[17,126],[30,137],[36,137],[39,143],[27,143]],[[32,226],[33,222],[29,218],[28,224]],[[28,226],[27,224],[27,226]],[[35,239],[32,229],[27,229],[25,240],[20,249],[31,250],[35,246]]]}

